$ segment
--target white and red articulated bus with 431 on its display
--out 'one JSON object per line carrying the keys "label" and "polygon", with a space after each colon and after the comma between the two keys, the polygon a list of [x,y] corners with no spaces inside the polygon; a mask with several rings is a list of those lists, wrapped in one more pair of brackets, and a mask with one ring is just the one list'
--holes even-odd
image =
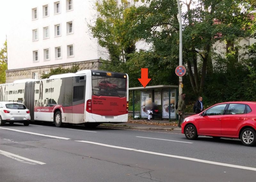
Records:
{"label": "white and red articulated bus with 431 on its display", "polygon": [[0,101],[20,102],[31,121],[85,124],[128,120],[128,75],[99,70],[53,75],[47,79],[0,84]]}

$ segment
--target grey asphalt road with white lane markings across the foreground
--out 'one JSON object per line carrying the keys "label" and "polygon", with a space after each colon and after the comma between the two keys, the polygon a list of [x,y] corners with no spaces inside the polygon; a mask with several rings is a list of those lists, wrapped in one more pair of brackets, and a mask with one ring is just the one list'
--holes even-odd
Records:
{"label": "grey asphalt road with white lane markings across the foreground", "polygon": [[176,133],[6,124],[0,181],[255,182],[256,147]]}

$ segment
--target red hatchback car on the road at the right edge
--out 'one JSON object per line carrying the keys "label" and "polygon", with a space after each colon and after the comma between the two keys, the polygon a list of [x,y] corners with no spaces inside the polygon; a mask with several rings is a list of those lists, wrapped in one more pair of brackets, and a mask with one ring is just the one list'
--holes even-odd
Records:
{"label": "red hatchback car on the road at the right edge", "polygon": [[256,102],[225,102],[184,119],[181,133],[189,140],[198,135],[237,138],[246,146],[256,143]]}

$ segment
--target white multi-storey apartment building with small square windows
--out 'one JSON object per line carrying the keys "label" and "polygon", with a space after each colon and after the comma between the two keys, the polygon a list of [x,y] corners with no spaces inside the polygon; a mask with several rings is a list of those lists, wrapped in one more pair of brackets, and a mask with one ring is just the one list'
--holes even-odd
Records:
{"label": "white multi-storey apartment building with small square windows", "polygon": [[[14,1],[7,33],[6,83],[17,79],[40,79],[51,68],[79,65],[98,69],[107,53],[92,38],[88,23],[97,12],[95,0]],[[137,49],[145,49],[138,42]]]}

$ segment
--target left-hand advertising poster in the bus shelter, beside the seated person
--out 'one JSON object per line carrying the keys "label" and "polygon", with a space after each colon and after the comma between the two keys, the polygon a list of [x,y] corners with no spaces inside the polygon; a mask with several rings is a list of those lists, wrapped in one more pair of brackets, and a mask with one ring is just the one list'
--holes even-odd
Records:
{"label": "left-hand advertising poster in the bus shelter, beside the seated person", "polygon": [[152,103],[152,92],[151,91],[142,91],[140,95],[140,103],[141,103],[141,108],[140,108],[140,115],[142,118],[148,118],[148,113],[147,113],[147,106]]}

